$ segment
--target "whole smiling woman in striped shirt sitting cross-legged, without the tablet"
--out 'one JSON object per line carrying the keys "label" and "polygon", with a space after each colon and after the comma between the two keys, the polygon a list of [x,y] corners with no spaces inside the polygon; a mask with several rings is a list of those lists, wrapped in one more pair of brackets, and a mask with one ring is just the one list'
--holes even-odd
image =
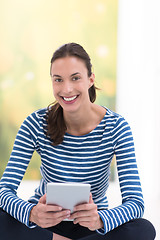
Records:
{"label": "whole smiling woman in striped shirt sitting cross-legged, without the tablet", "polygon": [[[0,182],[1,239],[153,240],[154,227],[141,218],[144,202],[130,127],[94,103],[88,54],[79,44],[63,45],[53,54],[50,74],[56,102],[24,120]],[[26,202],[16,192],[35,150],[42,179]],[[122,204],[109,209],[106,191],[114,154]],[[47,205],[48,182],[90,183],[89,203],[76,206],[73,214]]]}

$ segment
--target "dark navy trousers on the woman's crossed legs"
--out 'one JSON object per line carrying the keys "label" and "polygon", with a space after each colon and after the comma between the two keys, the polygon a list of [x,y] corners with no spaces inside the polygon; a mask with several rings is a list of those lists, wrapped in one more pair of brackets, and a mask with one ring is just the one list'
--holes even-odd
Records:
{"label": "dark navy trousers on the woman's crossed legs", "polygon": [[1,240],[52,240],[53,232],[77,240],[154,240],[156,235],[153,225],[142,218],[131,220],[105,235],[65,221],[47,229],[38,226],[30,229],[0,209]]}

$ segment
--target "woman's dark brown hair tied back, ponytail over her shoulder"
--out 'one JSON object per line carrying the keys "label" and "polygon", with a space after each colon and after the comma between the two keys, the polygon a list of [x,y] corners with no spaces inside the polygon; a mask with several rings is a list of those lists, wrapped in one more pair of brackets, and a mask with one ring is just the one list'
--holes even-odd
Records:
{"label": "woman's dark brown hair tied back, ponytail over her shoulder", "polygon": [[[67,56],[74,56],[80,58],[84,61],[86,68],[88,70],[88,77],[92,74],[92,64],[89,55],[84,50],[84,48],[77,43],[68,43],[60,48],[58,48],[52,58],[51,58],[51,67],[52,63],[58,59]],[[50,74],[51,74],[50,67]],[[96,87],[93,84],[88,92],[90,101],[93,103],[96,100]],[[58,102],[54,102],[48,106],[47,111],[47,136],[50,137],[52,145],[56,146],[62,143],[64,134],[67,130],[64,118],[63,118],[63,109]]]}

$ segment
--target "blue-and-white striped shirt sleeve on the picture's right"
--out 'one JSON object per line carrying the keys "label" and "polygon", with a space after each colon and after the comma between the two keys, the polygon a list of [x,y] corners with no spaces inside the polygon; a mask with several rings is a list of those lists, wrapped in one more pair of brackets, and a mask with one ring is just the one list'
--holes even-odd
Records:
{"label": "blue-and-white striped shirt sleeve on the picture's right", "polygon": [[99,211],[104,223],[104,229],[98,230],[101,234],[105,234],[132,219],[142,217],[144,212],[132,132],[122,117],[117,119],[111,135],[116,155],[122,204],[112,209]]}

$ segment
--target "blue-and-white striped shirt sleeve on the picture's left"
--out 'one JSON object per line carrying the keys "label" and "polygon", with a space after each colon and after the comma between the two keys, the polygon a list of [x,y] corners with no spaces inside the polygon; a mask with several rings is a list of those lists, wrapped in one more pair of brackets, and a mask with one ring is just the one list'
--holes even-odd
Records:
{"label": "blue-and-white striped shirt sleeve on the picture's left", "polygon": [[33,227],[29,223],[29,215],[34,204],[18,198],[17,189],[33,152],[38,148],[38,129],[36,113],[33,113],[25,119],[18,131],[9,162],[0,181],[0,207],[29,227]]}

